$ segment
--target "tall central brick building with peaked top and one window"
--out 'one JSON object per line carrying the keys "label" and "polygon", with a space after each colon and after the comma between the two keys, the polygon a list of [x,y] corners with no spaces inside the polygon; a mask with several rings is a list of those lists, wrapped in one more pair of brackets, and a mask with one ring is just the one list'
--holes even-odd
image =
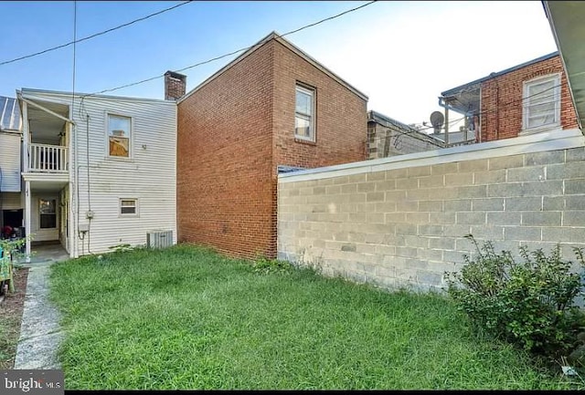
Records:
{"label": "tall central brick building with peaked top and one window", "polygon": [[179,242],[274,257],[278,169],[367,159],[367,97],[276,33],[177,104]]}

